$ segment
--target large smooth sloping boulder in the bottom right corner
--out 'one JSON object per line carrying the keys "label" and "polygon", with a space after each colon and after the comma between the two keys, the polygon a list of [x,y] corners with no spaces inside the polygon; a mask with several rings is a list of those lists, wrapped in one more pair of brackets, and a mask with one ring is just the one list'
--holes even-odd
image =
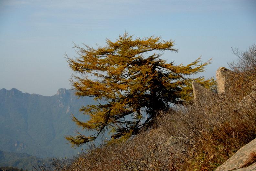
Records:
{"label": "large smooth sloping boulder in the bottom right corner", "polygon": [[229,170],[256,170],[256,139],[241,147],[232,157],[216,169],[216,171]]}

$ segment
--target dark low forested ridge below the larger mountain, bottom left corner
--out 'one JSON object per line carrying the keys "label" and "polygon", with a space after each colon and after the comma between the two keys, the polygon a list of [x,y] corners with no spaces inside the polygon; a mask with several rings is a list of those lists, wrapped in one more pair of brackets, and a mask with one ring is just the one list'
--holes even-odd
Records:
{"label": "dark low forested ridge below the larger mountain, bottom left corner", "polygon": [[28,155],[26,153],[9,153],[0,151],[0,167],[12,166],[19,168],[16,169],[18,171],[21,168],[23,170],[35,170],[34,167],[38,169],[38,166],[50,166],[50,163],[50,158],[41,159],[35,156]]}

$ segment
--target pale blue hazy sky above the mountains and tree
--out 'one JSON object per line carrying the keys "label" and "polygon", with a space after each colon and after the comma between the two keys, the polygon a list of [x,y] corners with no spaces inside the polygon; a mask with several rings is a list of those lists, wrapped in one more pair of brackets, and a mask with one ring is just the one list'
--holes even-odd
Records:
{"label": "pale blue hazy sky above the mountains and tree", "polygon": [[212,58],[203,74],[237,58],[256,43],[255,0],[0,0],[0,89],[54,95],[71,88],[64,58],[73,42],[105,45],[129,32],[175,40],[176,64]]}

